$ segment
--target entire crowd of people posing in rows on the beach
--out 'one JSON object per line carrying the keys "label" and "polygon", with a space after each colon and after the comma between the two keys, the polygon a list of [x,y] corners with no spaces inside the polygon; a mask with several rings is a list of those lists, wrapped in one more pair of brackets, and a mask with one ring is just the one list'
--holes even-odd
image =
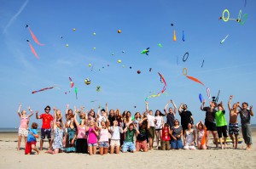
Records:
{"label": "entire crowd of people posing in rows on the beach", "polygon": [[[205,106],[205,100],[202,101],[201,110],[206,112],[205,121],[199,121],[196,124],[186,104],[180,104],[178,107],[181,121],[177,120],[177,106],[172,99],[166,104],[165,113],[161,113],[160,110],[155,110],[154,113],[153,110],[148,109],[148,102],[146,102],[146,110],[142,114],[136,112],[133,117],[128,110],[122,114],[119,109],[108,111],[108,104],[105,109],[99,106],[97,113],[94,109],[84,111],[84,107],[72,110],[67,104],[65,116],[62,116],[61,110],[56,108],[53,108],[54,115],[50,115],[51,109],[47,105],[44,114],[38,115],[36,111],[36,118],[43,121],[41,137],[38,135],[36,122],[32,122],[29,127],[29,117],[33,115],[33,111],[29,107],[30,115],[26,115],[26,110],[20,112],[20,104],[17,149],[20,150],[22,137],[25,138],[26,155],[31,154],[32,149],[39,154],[43,150],[46,137],[49,142],[46,153],[49,154],[66,152],[96,155],[97,149],[100,155],[108,154],[108,152],[119,154],[120,151],[123,153],[147,152],[154,149],[154,140],[155,149],[209,149],[211,132],[216,148],[218,148],[218,143],[220,149],[227,148],[226,138],[229,135],[233,148],[237,149],[238,115],[241,118],[242,137],[247,144],[247,149],[251,149],[250,119],[253,116],[253,106],[248,108],[246,102],[241,105],[236,102],[231,106],[232,99],[233,96],[230,96],[228,101],[229,126],[225,119],[224,104],[222,102],[217,104],[214,100],[209,106]],[[170,103],[172,107],[168,108]],[[163,116],[166,116],[166,121]],[[36,146],[37,138],[40,138],[39,149]]]}

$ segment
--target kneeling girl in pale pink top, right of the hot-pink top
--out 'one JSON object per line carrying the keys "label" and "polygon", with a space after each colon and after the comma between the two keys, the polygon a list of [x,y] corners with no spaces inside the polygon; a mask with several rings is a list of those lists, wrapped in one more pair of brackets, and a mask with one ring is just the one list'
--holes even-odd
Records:
{"label": "kneeling girl in pale pink top, right of the hot-pink top", "polygon": [[100,140],[99,140],[99,147],[100,147],[100,155],[108,154],[108,121],[102,121],[101,123],[102,127],[98,127],[98,130],[100,131]]}

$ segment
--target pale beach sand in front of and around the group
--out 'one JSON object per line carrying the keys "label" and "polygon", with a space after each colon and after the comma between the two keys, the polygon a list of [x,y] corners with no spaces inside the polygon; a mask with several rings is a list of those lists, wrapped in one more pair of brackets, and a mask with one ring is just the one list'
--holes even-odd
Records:
{"label": "pale beach sand in front of and around the group", "polygon": [[[240,137],[241,133],[240,133]],[[39,139],[38,139],[39,140]],[[150,150],[146,153],[120,153],[119,155],[66,154],[24,155],[24,140],[17,151],[17,133],[0,132],[0,168],[256,168],[256,130],[253,129],[253,149],[215,149],[210,138],[211,149],[207,150]],[[44,143],[44,146],[49,146]],[[37,143],[39,147],[39,142]]]}

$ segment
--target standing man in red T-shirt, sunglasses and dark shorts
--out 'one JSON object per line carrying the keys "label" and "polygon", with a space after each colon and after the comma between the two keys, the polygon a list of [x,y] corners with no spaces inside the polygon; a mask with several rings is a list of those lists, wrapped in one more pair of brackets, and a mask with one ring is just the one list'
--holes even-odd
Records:
{"label": "standing man in red T-shirt, sunglasses and dark shorts", "polygon": [[51,126],[52,126],[52,121],[53,121],[53,116],[49,114],[50,111],[50,107],[49,105],[47,105],[44,108],[45,113],[42,115],[38,116],[38,111],[36,112],[36,118],[37,119],[42,119],[43,120],[43,124],[41,127],[41,140],[40,140],[40,150],[43,150],[43,144],[44,144],[44,138],[45,135],[47,135],[48,141],[49,141],[49,149],[51,149],[51,136],[50,136],[50,132],[51,132]]}

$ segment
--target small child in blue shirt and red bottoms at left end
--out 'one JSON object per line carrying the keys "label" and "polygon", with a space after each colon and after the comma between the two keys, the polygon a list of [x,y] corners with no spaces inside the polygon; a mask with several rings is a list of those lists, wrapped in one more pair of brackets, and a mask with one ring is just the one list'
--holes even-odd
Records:
{"label": "small child in blue shirt and red bottoms at left end", "polygon": [[39,150],[36,147],[37,138],[39,138],[37,128],[38,124],[36,122],[33,122],[28,132],[25,155],[30,155],[32,153],[32,149],[37,151],[37,153],[39,154]]}

